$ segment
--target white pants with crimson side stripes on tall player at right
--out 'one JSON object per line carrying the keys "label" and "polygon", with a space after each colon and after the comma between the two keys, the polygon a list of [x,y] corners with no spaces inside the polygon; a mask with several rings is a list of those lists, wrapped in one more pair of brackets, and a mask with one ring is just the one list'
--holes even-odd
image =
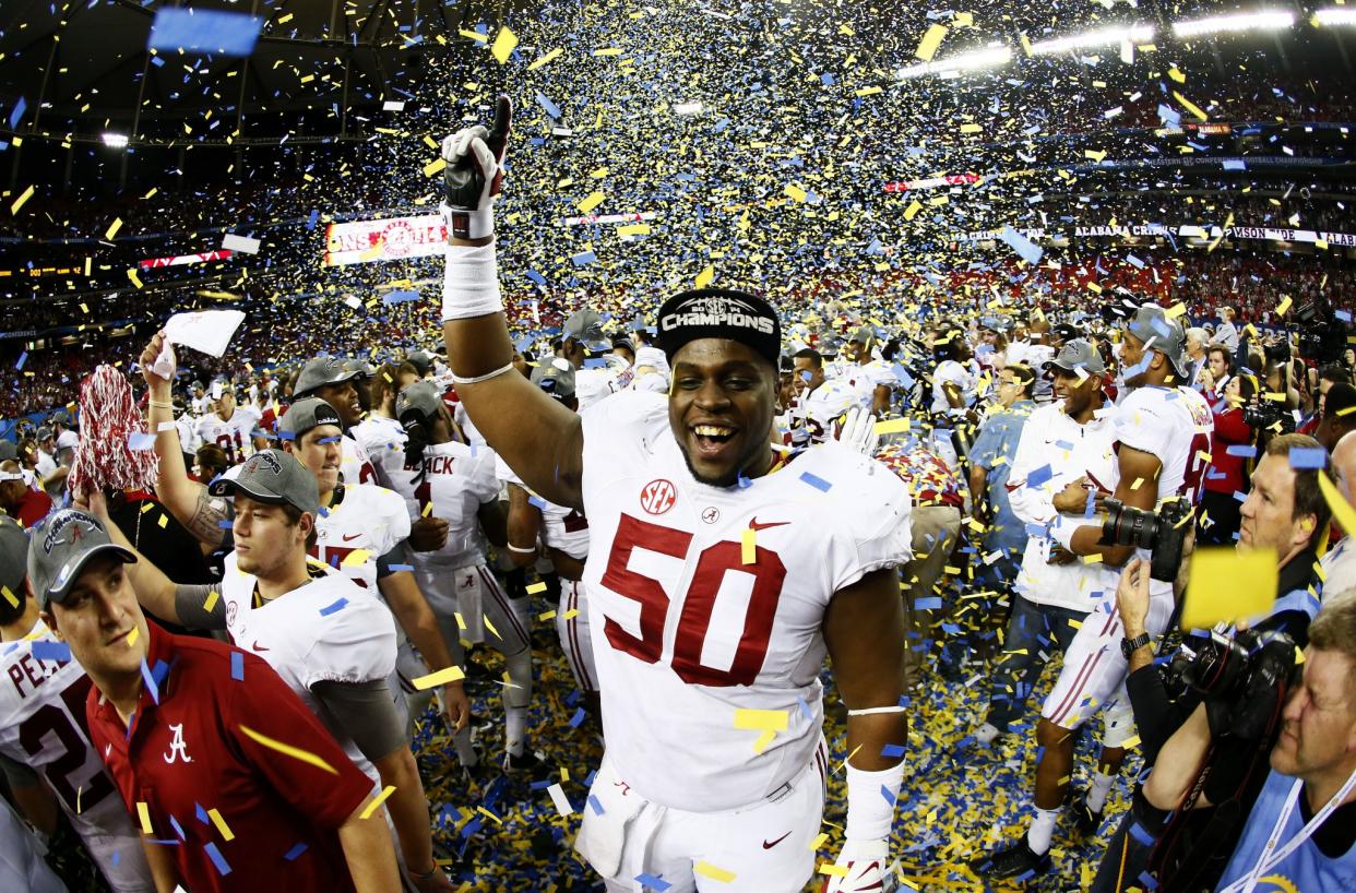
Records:
{"label": "white pants with crimson side stripes on tall player at right", "polygon": [[[1093,608],[1093,612],[1083,618],[1083,625],[1078,627],[1074,641],[1064,652],[1064,667],[1059,671],[1059,680],[1054,691],[1045,698],[1040,709],[1050,722],[1062,729],[1077,729],[1086,722],[1098,709],[1108,703],[1128,703],[1125,695],[1125,676],[1130,665],[1120,652],[1120,640],[1125,636],[1125,627],[1120,622],[1120,611],[1116,608],[1115,584],[1106,589],[1109,598],[1104,598]],[[1149,617],[1144,618],[1144,630],[1154,638],[1163,634],[1168,622],[1173,617],[1173,595],[1169,588],[1162,595],[1149,598]],[[1124,724],[1120,724],[1124,728]],[[1132,726],[1130,726],[1132,728]],[[1131,732],[1117,733],[1111,740],[1102,740],[1106,747],[1120,747],[1130,737]]]}

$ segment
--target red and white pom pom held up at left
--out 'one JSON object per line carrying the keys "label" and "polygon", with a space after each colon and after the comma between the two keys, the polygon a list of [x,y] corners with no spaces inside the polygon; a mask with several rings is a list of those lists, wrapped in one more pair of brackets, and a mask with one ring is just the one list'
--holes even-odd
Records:
{"label": "red and white pom pom held up at left", "polygon": [[153,489],[160,457],[155,450],[132,449],[148,435],[155,436],[146,431],[127,378],[113,366],[95,369],[80,383],[80,444],[71,463],[71,492]]}

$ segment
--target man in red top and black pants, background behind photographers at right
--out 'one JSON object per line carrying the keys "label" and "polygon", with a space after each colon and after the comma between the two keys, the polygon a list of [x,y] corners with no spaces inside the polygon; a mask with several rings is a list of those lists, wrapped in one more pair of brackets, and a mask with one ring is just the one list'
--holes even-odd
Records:
{"label": "man in red top and black pants, background behind photographers at right", "polygon": [[1229,546],[1242,523],[1235,493],[1248,492],[1248,466],[1253,449],[1253,427],[1248,407],[1257,396],[1257,378],[1234,375],[1224,385],[1223,398],[1215,405],[1215,431],[1210,435],[1210,465],[1203,482],[1197,515],[1197,546]]}

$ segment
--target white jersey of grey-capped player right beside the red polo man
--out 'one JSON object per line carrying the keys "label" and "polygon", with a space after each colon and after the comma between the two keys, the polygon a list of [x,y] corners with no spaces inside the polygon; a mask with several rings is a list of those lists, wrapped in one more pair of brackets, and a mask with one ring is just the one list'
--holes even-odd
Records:
{"label": "white jersey of grey-capped player right beside the red polo man", "polygon": [[376,781],[376,768],[311,694],[311,686],[389,678],[396,668],[396,622],[391,611],[338,573],[313,579],[262,607],[254,607],[254,575],[240,570],[232,552],[221,575],[231,641],[268,661],[354,764]]}

